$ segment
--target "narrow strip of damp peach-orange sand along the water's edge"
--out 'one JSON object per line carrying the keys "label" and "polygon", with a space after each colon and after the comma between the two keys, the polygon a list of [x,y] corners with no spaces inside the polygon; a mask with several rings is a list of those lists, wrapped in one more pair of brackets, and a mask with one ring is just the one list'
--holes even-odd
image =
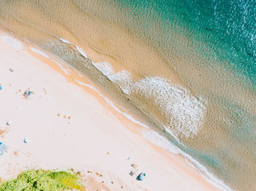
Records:
{"label": "narrow strip of damp peach-orange sand along the water's edge", "polygon": [[[1,42],[2,43],[2,42]],[[24,44],[23,44],[24,45]],[[129,130],[132,129],[132,133],[135,133],[135,129],[138,128],[138,125],[135,125],[134,123],[130,122],[130,120],[125,119],[124,116],[121,116],[121,114],[118,114],[115,109],[113,109],[110,105],[107,104],[107,101],[104,101],[103,98],[101,98],[99,95],[97,95],[96,92],[94,92],[93,90],[89,90],[89,88],[83,87],[83,85],[79,85],[78,82],[75,82],[75,77],[78,79],[83,79],[82,82],[85,82],[86,84],[89,83],[88,81],[86,81],[86,79],[84,77],[80,77],[79,74],[76,74],[75,71],[72,71],[72,69],[69,69],[69,76],[67,76],[67,74],[65,74],[64,71],[61,71],[61,68],[58,68],[58,63],[51,63],[51,61],[47,61],[48,58],[43,58],[42,55],[36,55],[36,53],[30,52],[28,50],[26,50],[27,52],[29,52],[29,54],[35,58],[37,58],[41,63],[46,63],[48,66],[50,66],[51,69],[53,69],[54,71],[58,71],[58,72],[53,72],[53,73],[59,73],[61,74],[62,77],[65,78],[65,80],[71,84],[75,84],[78,87],[82,87],[83,91],[86,90],[86,93],[89,93],[91,96],[93,96],[94,98],[97,99],[97,101],[99,101],[99,103],[101,105],[104,105],[104,108],[108,111],[108,113],[110,113],[110,115],[113,115],[115,117],[117,117],[117,119],[119,120],[119,122],[121,122],[122,126],[129,128]],[[74,77],[75,76],[75,77]],[[79,81],[80,81],[79,80]],[[3,90],[1,90],[3,91]],[[127,125],[128,124],[128,125]],[[141,128],[140,128],[141,129]],[[136,134],[136,133],[135,133]],[[141,136],[139,136],[139,134],[136,134],[136,137],[140,137],[139,139],[142,139],[145,143],[145,139],[141,138]],[[141,141],[141,140],[140,140]],[[194,178],[190,177],[190,179],[195,179],[194,181],[200,182],[200,184],[202,184],[202,186],[204,187],[208,187],[209,190],[214,190],[214,188],[211,188],[211,184],[209,184],[208,182],[206,182],[205,179],[203,179],[203,177],[199,174],[198,171],[196,171],[195,169],[189,169],[192,168],[189,165],[187,165],[187,163],[184,160],[184,157],[182,157],[181,155],[174,155],[174,154],[170,154],[169,152],[166,152],[162,149],[157,148],[157,146],[154,146],[153,144],[147,143],[147,147],[153,147],[154,153],[158,153],[159,155],[164,155],[166,158],[165,160],[170,160],[170,158],[172,158],[173,160],[176,160],[176,163],[178,163],[178,165],[186,165],[186,167],[182,166],[185,168],[184,169],[179,169],[181,170],[178,174],[182,173],[182,174],[189,174],[190,176],[192,176],[191,174],[193,174],[193,176],[196,176]],[[157,152],[156,152],[157,150]],[[183,164],[185,163],[185,164]],[[189,173],[188,173],[189,171]],[[197,180],[199,179],[199,180]],[[191,187],[188,188],[189,190],[191,190]],[[196,188],[195,188],[196,189]],[[150,189],[149,189],[150,190]]]}

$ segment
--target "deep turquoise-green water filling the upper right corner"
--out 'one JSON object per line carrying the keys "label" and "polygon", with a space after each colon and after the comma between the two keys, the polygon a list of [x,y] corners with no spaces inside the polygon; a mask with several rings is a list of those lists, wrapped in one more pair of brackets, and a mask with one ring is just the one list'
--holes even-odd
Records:
{"label": "deep turquoise-green water filling the upper right corner", "polygon": [[[158,40],[170,47],[173,33],[186,36],[194,41],[187,42],[207,52],[200,52],[202,57],[210,61],[225,61],[236,74],[243,74],[249,83],[256,80],[256,2],[255,1],[118,1],[122,9],[129,7],[129,16],[140,21],[135,30],[150,35],[154,22],[161,22],[156,29]],[[139,17],[139,18],[138,18]],[[151,22],[151,23],[149,23]],[[149,23],[149,24],[148,24]],[[181,29],[181,30],[180,30]],[[148,34],[148,35],[147,35]],[[160,35],[159,35],[160,34]],[[164,34],[164,35],[161,35]],[[169,45],[169,46],[168,46]],[[189,48],[189,47],[187,47]],[[170,47],[172,51],[181,46]],[[200,50],[199,50],[200,51]],[[184,50],[180,50],[184,54]],[[187,53],[187,52],[186,52]]]}

